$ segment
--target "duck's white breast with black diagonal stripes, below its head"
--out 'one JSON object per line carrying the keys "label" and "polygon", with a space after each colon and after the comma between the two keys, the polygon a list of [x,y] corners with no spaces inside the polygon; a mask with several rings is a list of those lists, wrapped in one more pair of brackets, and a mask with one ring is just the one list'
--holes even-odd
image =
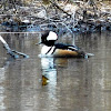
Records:
{"label": "duck's white breast with black diagonal stripes, below its head", "polygon": [[43,46],[41,49],[41,54],[47,54],[47,56],[51,56],[56,50],[56,47],[48,47],[48,46]]}

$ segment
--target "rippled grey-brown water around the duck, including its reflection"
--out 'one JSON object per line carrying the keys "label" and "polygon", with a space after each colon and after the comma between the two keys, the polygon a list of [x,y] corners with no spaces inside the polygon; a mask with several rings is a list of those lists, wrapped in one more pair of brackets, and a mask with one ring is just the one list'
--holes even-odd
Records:
{"label": "rippled grey-brown water around the duck, including its reflection", "polygon": [[89,59],[39,58],[40,34],[1,36],[30,58],[12,60],[0,43],[0,111],[111,111],[111,32],[75,36]]}

